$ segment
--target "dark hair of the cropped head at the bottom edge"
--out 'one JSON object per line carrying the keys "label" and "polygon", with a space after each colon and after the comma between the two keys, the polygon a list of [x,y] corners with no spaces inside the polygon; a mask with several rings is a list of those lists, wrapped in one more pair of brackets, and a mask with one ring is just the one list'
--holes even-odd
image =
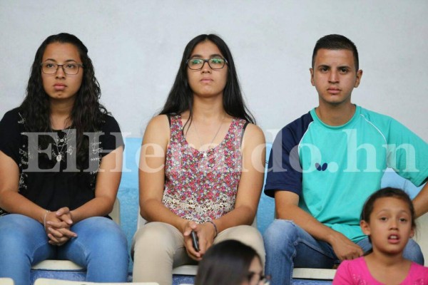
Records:
{"label": "dark hair of the cropped head at the bottom edge", "polygon": [[253,247],[228,239],[210,247],[198,266],[195,285],[236,285],[248,278],[248,269],[259,255]]}

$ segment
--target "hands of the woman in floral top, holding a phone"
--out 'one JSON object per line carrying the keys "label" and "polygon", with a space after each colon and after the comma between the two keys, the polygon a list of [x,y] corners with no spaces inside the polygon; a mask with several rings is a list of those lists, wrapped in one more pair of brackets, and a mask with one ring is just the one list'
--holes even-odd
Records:
{"label": "hands of the woman in floral top, holding a phone", "polygon": [[[193,248],[191,232],[195,232],[199,242],[199,252]],[[196,224],[193,221],[188,221],[183,228],[183,237],[185,249],[188,256],[196,261],[200,261],[203,254],[213,245],[215,237],[215,229],[210,223]]]}

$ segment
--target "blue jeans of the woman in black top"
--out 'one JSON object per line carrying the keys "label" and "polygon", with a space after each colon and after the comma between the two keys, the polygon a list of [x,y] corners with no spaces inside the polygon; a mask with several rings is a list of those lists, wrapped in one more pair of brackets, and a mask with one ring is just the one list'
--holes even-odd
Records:
{"label": "blue jeans of the woman in black top", "polygon": [[126,236],[111,219],[91,217],[74,224],[78,237],[56,247],[42,224],[21,214],[0,217],[0,277],[30,284],[31,266],[45,259],[68,259],[86,268],[86,281],[126,282]]}

